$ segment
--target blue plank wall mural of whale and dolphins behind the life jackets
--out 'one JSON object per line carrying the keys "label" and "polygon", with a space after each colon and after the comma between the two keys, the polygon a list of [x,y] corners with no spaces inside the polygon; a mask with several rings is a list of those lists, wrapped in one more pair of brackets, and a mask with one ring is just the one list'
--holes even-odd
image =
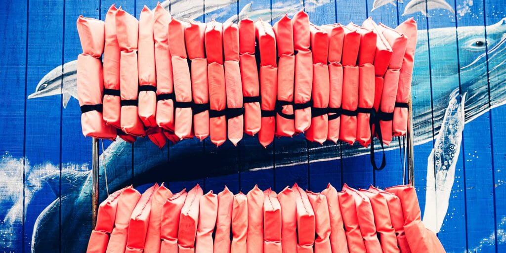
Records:
{"label": "blue plank wall mural of whale and dolphins behind the life jackets", "polygon": [[[84,252],[91,231],[91,138],[80,130],[75,20],[105,18],[111,4],[139,15],[154,0],[6,0],[0,8],[0,252]],[[424,223],[448,252],[506,252],[506,3],[502,0],[172,0],[183,20],[276,22],[305,9],[317,25],[395,27],[413,16],[415,186]],[[125,185],[171,190],[201,184],[233,192],[255,184],[276,191],[297,182],[365,188],[405,182],[403,145],[373,171],[358,144],[313,144],[303,136],[263,148],[184,140],[158,149],[104,141],[100,198]],[[379,157],[381,154],[376,154]]]}

